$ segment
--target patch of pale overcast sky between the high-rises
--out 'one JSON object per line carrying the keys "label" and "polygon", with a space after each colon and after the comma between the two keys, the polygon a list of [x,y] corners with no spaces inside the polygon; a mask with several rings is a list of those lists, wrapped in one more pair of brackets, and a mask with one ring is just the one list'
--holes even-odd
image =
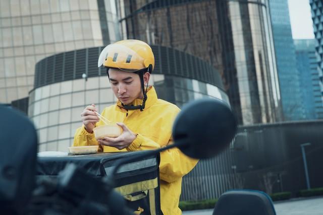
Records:
{"label": "patch of pale overcast sky between the high-rises", "polygon": [[288,0],[293,39],[313,39],[309,0]]}

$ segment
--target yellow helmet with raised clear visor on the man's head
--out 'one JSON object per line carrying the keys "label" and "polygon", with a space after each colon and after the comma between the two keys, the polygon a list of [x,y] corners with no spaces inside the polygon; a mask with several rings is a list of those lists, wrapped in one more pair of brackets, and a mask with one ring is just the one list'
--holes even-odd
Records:
{"label": "yellow helmet with raised clear visor on the man's head", "polygon": [[121,40],[107,45],[99,56],[97,66],[124,71],[138,71],[147,68],[152,72],[155,59],[150,46],[141,40]]}

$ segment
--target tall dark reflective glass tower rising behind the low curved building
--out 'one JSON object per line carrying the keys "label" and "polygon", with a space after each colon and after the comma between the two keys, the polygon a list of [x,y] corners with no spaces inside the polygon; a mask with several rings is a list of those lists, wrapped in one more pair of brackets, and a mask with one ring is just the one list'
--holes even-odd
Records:
{"label": "tall dark reflective glass tower rising behind the low curved building", "polygon": [[[281,119],[266,1],[117,1],[122,37],[210,62],[240,124]],[[176,69],[171,65],[169,69]]]}

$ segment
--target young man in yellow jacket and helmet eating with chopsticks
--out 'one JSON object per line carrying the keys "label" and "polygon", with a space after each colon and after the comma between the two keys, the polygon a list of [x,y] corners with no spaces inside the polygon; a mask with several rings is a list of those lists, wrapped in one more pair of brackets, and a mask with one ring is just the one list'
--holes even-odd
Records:
{"label": "young man in yellow jacket and helmet eating with chopsticks", "polygon": [[[103,152],[119,152],[154,150],[172,144],[172,126],[180,109],[158,99],[155,89],[148,87],[154,67],[150,46],[139,40],[116,42],[102,50],[98,66],[102,64],[118,102],[104,108],[101,115],[120,125],[123,133],[96,140],[93,128],[104,123],[92,104],[81,114],[83,126],[77,129],[73,146],[101,145]],[[178,207],[182,177],[196,163],[177,148],[160,153],[160,203],[164,214],[182,213]]]}

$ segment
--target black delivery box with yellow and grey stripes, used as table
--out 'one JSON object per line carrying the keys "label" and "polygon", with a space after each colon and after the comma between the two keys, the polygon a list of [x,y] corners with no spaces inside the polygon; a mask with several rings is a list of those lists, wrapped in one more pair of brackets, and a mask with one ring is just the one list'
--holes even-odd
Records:
{"label": "black delivery box with yellow and grey stripes, used as table", "polygon": [[[56,177],[68,163],[76,164],[93,177],[110,175],[117,160],[139,152],[99,153],[78,156],[37,157],[37,177]],[[159,153],[121,166],[116,178],[116,190],[127,200],[136,214],[163,214],[160,210]]]}

